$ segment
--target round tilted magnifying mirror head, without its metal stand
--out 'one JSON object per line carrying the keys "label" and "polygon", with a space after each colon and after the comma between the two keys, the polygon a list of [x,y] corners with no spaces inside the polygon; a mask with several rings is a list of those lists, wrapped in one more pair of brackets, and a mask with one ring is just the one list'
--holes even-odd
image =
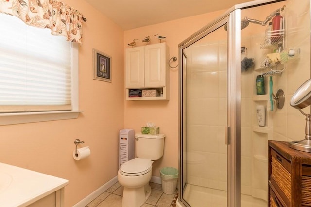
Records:
{"label": "round tilted magnifying mirror head, without its metal stand", "polygon": [[304,82],[296,90],[290,104],[296,109],[303,109],[311,105],[311,79]]}

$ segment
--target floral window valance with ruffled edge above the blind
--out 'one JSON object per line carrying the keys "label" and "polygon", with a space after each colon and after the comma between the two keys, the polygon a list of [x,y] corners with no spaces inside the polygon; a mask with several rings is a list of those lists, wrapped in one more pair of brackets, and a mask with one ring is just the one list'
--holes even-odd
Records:
{"label": "floral window valance with ruffled edge above the blind", "polygon": [[60,0],[0,0],[0,12],[17,16],[28,25],[50,28],[53,35],[82,43],[83,15]]}

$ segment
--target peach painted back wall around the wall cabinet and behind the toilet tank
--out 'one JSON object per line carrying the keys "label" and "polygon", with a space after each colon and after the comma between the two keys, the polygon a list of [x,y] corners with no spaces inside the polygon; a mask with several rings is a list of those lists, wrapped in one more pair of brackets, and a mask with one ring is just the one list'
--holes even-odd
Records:
{"label": "peach painted back wall around the wall cabinet and behind the toilet tank", "polygon": [[[172,66],[179,62],[178,44],[184,41],[193,33],[207,25],[214,18],[224,13],[217,11],[198,16],[191,16],[178,20],[168,21],[160,24],[149,25],[124,32],[124,49],[127,44],[133,42],[133,39],[139,39],[137,46],[143,46],[141,40],[150,36],[148,43],[156,44],[159,40],[154,37],[155,34],[166,36],[166,42],[169,46],[170,58],[176,56],[177,62],[171,61]],[[164,155],[153,164],[153,176],[160,177],[160,169],[163,167],[178,168],[178,107],[179,107],[179,67],[170,69],[170,100],[157,101],[125,101],[124,126],[140,132],[141,127],[147,122],[154,122],[160,127],[160,133],[166,135]]]}

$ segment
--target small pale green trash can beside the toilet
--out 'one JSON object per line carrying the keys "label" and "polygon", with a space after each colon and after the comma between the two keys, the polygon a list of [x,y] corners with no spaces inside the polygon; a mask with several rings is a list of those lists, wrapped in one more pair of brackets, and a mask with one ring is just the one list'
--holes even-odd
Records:
{"label": "small pale green trash can beside the toilet", "polygon": [[178,170],[173,167],[165,167],[160,170],[162,190],[165,194],[174,194],[176,192]]}

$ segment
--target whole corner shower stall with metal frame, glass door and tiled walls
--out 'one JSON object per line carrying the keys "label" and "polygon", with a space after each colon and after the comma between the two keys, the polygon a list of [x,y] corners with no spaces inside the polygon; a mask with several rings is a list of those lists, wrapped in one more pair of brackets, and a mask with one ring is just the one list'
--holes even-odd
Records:
{"label": "whole corner shower stall with metal frame, glass door and tiled walls", "polygon": [[[276,15],[282,26],[271,31]],[[177,205],[268,206],[268,140],[304,138],[304,116],[289,101],[311,77],[310,0],[238,4],[180,43],[179,57]]]}

